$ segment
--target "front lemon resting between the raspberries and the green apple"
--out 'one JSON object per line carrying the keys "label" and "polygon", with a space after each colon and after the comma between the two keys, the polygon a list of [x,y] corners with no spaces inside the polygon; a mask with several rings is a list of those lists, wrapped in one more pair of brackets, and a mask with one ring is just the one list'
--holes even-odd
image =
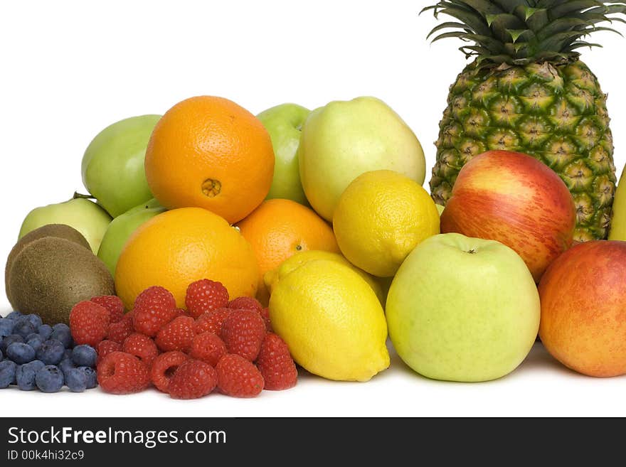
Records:
{"label": "front lemon resting between the raspberries and the green apple", "polygon": [[339,262],[314,259],[274,286],[274,331],[307,371],[339,381],[368,381],[389,366],[387,323],[367,282]]}

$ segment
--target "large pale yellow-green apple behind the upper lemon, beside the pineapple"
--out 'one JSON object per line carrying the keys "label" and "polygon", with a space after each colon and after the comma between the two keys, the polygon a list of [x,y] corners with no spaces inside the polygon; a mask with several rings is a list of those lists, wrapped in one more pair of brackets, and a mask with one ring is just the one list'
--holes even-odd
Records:
{"label": "large pale yellow-green apple behind the upper lemon, beside the pineapple", "polygon": [[304,193],[328,221],[341,193],[361,173],[388,169],[422,185],[426,171],[420,141],[375,97],[330,102],[311,112],[297,157]]}

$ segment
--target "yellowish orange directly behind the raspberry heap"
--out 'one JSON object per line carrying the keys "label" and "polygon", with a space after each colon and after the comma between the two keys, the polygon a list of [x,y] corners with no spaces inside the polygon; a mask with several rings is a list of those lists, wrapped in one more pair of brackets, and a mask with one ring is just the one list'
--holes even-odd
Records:
{"label": "yellowish orange directly behind the raspberry heap", "polygon": [[228,222],[202,208],[181,208],[142,224],[124,245],[115,269],[115,290],[124,306],[149,286],[163,286],[185,306],[187,286],[220,281],[230,298],[254,296],[259,270],[250,243]]}

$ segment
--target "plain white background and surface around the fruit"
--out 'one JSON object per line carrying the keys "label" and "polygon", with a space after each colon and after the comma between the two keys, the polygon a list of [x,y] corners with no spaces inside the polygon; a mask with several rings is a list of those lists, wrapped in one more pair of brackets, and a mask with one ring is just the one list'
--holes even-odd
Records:
{"label": "plain white background and surface around the fruit", "polygon": [[[447,88],[465,59],[454,40],[429,45],[431,1],[3,1],[0,6],[0,260],[32,208],[84,190],[83,151],[108,124],[163,113],[193,95],[258,113],[373,95],[405,119],[430,171]],[[618,26],[619,27],[619,26]],[[624,30],[625,28],[622,28]],[[599,33],[583,50],[608,92],[618,176],[626,161],[626,40]],[[595,42],[595,41],[594,41]],[[425,186],[428,186],[427,175]],[[0,311],[9,311],[0,281]],[[2,416],[626,415],[625,377],[594,379],[536,345],[495,382],[436,382],[397,358],[367,383],[305,375],[257,399],[178,402],[154,390],[112,396],[2,390]]]}

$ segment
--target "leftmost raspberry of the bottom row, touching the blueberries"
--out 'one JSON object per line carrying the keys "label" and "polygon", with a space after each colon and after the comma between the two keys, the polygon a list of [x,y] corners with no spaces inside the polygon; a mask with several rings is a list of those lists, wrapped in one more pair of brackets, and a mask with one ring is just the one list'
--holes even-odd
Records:
{"label": "leftmost raspberry of the bottom row, touching the blueberries", "polygon": [[131,394],[150,385],[146,365],[129,353],[112,352],[97,367],[97,380],[105,392]]}

